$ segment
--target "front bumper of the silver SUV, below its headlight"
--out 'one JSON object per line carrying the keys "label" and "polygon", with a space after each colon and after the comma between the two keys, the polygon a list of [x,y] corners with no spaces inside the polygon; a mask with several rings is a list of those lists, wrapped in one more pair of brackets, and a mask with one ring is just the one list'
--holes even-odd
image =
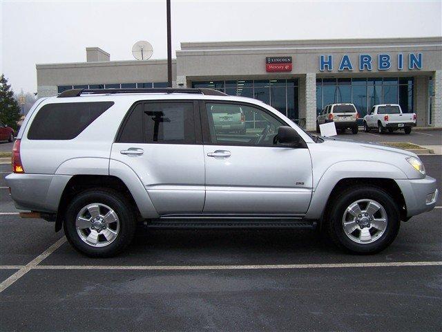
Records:
{"label": "front bumper of the silver SUV, below its headlight", "polygon": [[396,180],[405,199],[407,217],[434,209],[439,196],[436,179],[431,176],[412,180]]}

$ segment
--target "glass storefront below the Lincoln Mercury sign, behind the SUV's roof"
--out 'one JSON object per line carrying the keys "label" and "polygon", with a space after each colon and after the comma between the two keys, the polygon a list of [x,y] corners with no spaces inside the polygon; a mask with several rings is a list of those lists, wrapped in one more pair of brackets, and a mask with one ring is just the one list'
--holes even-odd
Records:
{"label": "glass storefront below the Lincoln Mercury sign, behind the SUV's roof", "polygon": [[[298,80],[235,80],[192,82],[193,88],[209,88],[228,95],[261,100],[288,118],[298,119]],[[247,119],[246,121],[252,120]]]}

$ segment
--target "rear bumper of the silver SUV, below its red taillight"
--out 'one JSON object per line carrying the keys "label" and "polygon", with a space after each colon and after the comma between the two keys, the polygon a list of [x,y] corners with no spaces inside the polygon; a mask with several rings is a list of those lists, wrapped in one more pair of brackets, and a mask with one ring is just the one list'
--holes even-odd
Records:
{"label": "rear bumper of the silver SUV, below its red taillight", "polygon": [[52,174],[9,174],[6,183],[20,210],[57,212],[66,183],[72,176]]}

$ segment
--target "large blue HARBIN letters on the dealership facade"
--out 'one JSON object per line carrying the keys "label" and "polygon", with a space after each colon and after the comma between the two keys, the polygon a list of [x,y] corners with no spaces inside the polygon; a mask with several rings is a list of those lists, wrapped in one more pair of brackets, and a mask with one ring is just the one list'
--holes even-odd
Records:
{"label": "large blue HARBIN letters on the dealership facade", "polygon": [[[387,71],[392,67],[392,57],[390,54],[383,53],[377,55],[378,59],[378,71]],[[349,55],[345,54],[340,58],[338,71],[353,71],[354,65],[359,71],[372,71],[373,57],[369,54],[361,54],[358,57],[358,64],[352,64]],[[422,53],[409,53],[404,55],[399,53],[397,55],[397,69],[401,71],[404,66],[408,66],[408,69],[422,69]],[[319,71],[333,71],[333,55],[320,55],[319,56]]]}

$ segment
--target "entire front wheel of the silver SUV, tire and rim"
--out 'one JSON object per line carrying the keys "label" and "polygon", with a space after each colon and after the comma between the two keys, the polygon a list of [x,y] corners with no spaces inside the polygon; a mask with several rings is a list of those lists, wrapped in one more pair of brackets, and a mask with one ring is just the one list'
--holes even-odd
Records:
{"label": "entire front wheel of the silver SUV, tire and rim", "polygon": [[400,223],[397,204],[387,192],[378,187],[352,187],[332,203],[327,230],[340,248],[372,254],[392,243]]}

